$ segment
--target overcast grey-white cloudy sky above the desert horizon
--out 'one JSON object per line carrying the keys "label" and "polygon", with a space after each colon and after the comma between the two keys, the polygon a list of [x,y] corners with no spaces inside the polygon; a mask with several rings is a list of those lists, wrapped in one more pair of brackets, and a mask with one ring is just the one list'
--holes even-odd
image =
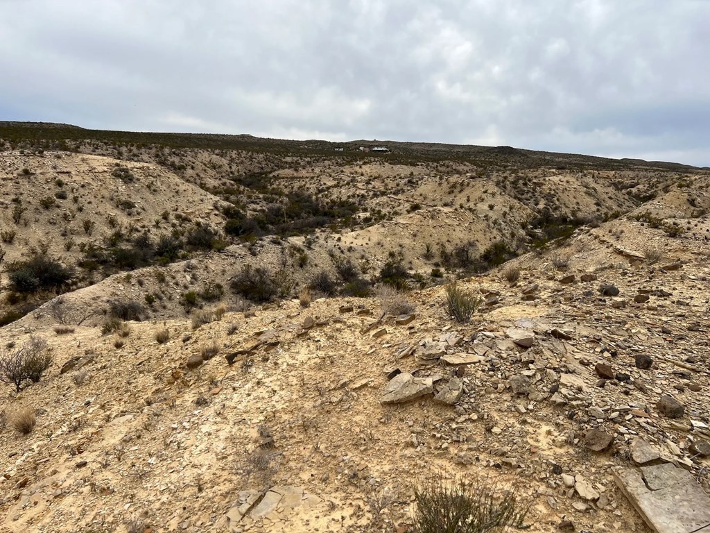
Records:
{"label": "overcast grey-white cloudy sky above the desert horizon", "polygon": [[710,166],[710,0],[0,0],[0,119]]}

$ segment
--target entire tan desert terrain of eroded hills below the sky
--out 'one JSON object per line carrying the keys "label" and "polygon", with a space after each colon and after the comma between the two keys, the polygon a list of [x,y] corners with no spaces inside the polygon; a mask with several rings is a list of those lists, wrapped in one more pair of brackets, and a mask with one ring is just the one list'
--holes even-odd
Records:
{"label": "entire tan desert terrain of eroded hills below the sky", "polygon": [[708,490],[706,170],[30,130],[0,532],[414,532],[442,475],[532,532],[651,532],[623,473]]}

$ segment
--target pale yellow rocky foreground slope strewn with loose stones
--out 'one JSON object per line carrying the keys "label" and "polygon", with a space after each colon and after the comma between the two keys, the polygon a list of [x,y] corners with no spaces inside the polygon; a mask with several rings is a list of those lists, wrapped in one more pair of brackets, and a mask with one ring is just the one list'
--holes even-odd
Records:
{"label": "pale yellow rocky foreground slope strewn with loose stones", "polygon": [[486,299],[468,325],[434,288],[380,323],[376,299],[323,298],[131,323],[120,348],[38,327],[55,367],[7,389],[6,416],[37,425],[0,432],[0,531],[406,531],[441,472],[501,476],[531,531],[647,531],[612,473],[667,461],[707,483],[710,265],[699,239],[649,264],[594,232],[564,271],[531,254],[512,286],[459,282]]}

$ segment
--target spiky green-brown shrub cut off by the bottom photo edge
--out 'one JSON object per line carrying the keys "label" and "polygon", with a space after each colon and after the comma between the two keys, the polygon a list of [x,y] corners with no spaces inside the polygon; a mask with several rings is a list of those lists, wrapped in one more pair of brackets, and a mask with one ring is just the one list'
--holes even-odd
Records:
{"label": "spiky green-brown shrub cut off by the bottom photo edge", "polygon": [[486,533],[523,528],[530,505],[490,478],[447,480],[443,475],[414,491],[416,533]]}

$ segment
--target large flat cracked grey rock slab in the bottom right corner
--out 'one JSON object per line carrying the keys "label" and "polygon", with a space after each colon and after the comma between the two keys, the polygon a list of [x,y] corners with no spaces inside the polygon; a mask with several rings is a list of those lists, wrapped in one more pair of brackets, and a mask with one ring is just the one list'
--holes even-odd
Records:
{"label": "large flat cracked grey rock slab in the bottom right corner", "polygon": [[657,533],[710,531],[710,497],[671,463],[614,472],[616,484]]}

